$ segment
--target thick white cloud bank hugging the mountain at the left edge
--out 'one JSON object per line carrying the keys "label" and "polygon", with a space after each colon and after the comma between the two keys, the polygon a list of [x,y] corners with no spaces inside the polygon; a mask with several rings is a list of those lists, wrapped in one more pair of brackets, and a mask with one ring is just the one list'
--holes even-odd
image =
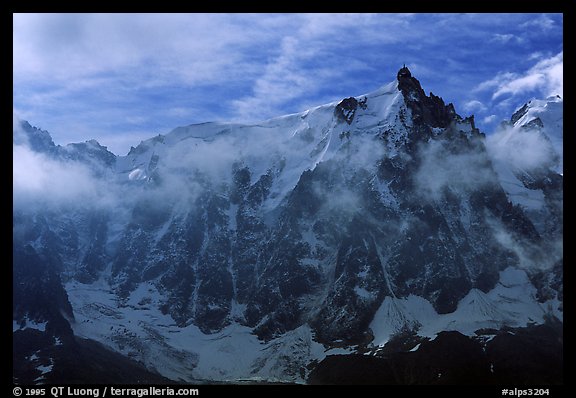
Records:
{"label": "thick white cloud bank hugging the mountain at the left edge", "polygon": [[[129,216],[137,203],[155,207],[179,202],[190,204],[199,189],[193,178],[195,170],[187,168],[195,165],[209,172],[224,155],[232,156],[231,152],[217,153],[216,150],[225,150],[219,146],[214,148],[215,151],[200,152],[193,162],[178,164],[178,168],[176,163],[172,163],[173,168],[163,173],[156,184],[148,180],[129,182],[91,158],[86,161],[69,159],[65,155],[67,150],[71,150],[69,148],[61,148],[56,154],[33,150],[16,116],[14,123],[14,211],[65,210],[70,214],[82,214],[83,211],[104,210],[117,216],[115,222],[122,222],[121,217]],[[175,148],[181,149],[179,146]],[[175,172],[176,168],[179,172]]]}

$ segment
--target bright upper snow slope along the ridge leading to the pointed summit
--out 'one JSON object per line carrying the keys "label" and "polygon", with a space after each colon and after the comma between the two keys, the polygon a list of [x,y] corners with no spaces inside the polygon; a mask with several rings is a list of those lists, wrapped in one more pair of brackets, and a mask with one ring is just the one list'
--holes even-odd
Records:
{"label": "bright upper snow slope along the ridge leading to the pointed summit", "polygon": [[[172,173],[196,170],[229,181],[231,165],[240,160],[250,169],[252,181],[267,172],[274,173],[270,198],[264,204],[265,210],[272,210],[305,170],[333,158],[344,146],[348,152],[362,150],[358,161],[368,162],[381,155],[371,145],[378,133],[389,129],[396,134],[389,137],[389,142],[401,142],[408,135],[410,118],[404,125],[397,119],[400,109],[409,114],[397,81],[355,98],[367,105],[356,110],[350,125],[335,116],[338,103],[334,102],[253,125],[202,123],[178,127],[118,157],[116,172],[121,181],[139,182],[162,166]],[[366,153],[366,149],[372,150]],[[388,150],[393,152],[394,145]]]}

